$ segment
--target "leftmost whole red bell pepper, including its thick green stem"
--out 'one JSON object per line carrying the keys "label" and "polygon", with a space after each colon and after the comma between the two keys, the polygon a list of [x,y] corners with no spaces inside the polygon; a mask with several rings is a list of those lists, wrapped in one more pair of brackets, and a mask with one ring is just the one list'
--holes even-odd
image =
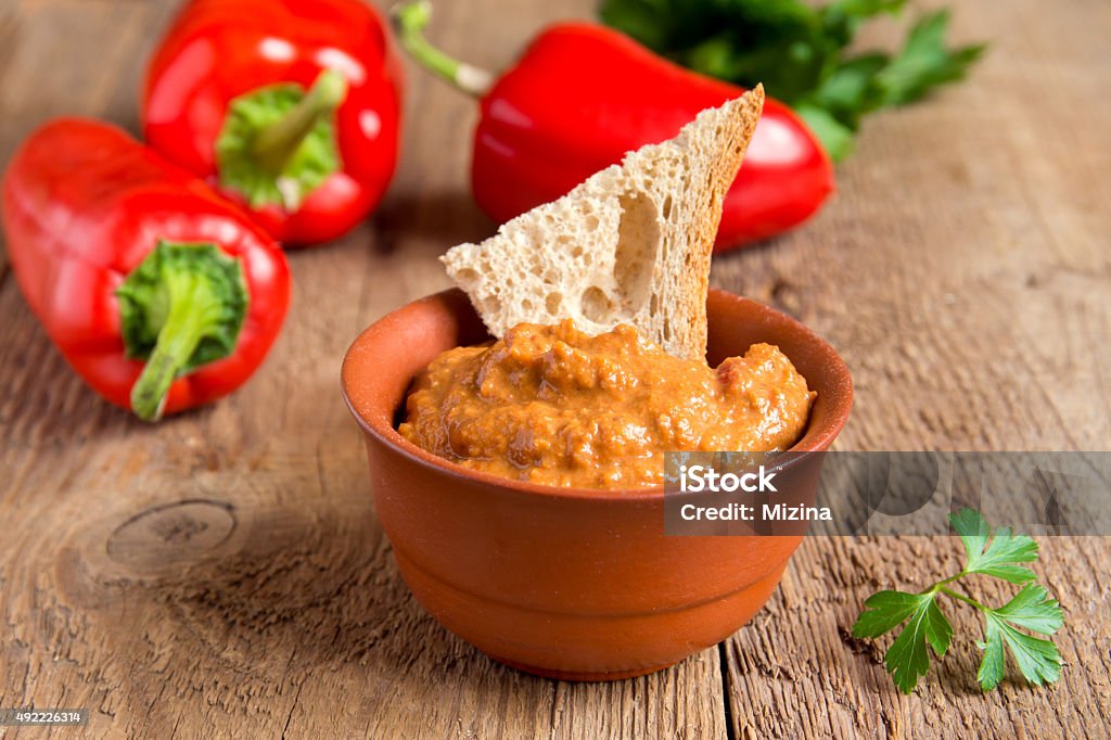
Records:
{"label": "leftmost whole red bell pepper, including its thick green stem", "polygon": [[231,392],[289,306],[281,247],[119,129],[61,119],[3,177],[8,256],[70,366],[147,420]]}

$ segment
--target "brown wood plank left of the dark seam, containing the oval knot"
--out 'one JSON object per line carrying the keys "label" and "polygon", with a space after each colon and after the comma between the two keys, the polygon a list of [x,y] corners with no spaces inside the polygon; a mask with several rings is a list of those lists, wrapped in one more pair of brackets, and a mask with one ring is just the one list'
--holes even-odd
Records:
{"label": "brown wood plank left of the dark seam, containing the oval knot", "polygon": [[[444,6],[433,36],[467,47],[481,10]],[[506,63],[544,12],[503,13],[508,30],[476,61]],[[121,56],[139,53],[128,43]],[[14,636],[0,704],[57,703],[64,689],[106,737],[724,733],[715,650],[604,687],[537,679],[448,634],[400,581],[338,397],[339,359],[363,326],[448,284],[446,244],[492,228],[460,188],[473,102],[430,79],[410,89],[407,166],[380,213],[341,244],[291,256],[282,339],[210,409],[131,421],[68,371],[13,284],[0,293],[4,468],[18,473],[0,509],[68,522],[22,530],[18,562],[0,567]],[[12,94],[24,128],[49,114]],[[133,123],[130,96],[98,100],[89,112]]]}

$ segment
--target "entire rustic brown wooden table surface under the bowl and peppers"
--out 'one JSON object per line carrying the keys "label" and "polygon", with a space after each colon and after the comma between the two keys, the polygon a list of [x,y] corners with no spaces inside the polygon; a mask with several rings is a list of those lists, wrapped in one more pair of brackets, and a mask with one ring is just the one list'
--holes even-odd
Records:
{"label": "entire rustic brown wooden table surface under the bowl and peppers", "polygon": [[[0,163],[60,113],[136,130],[172,4],[2,0]],[[958,4],[955,37],[992,42],[973,79],[870,121],[820,218],[717,259],[713,283],[843,352],[857,404],[840,449],[1109,449],[1111,6]],[[432,38],[490,67],[592,10],[440,6]],[[877,26],[867,41],[890,42]],[[493,229],[468,193],[474,104],[409,72],[389,197],[341,243],[290,254],[284,333],[216,406],[149,427],[101,402],[0,268],[0,707],[88,707],[89,736],[121,738],[1111,734],[1100,538],[1042,540],[1067,613],[1062,679],[1043,690],[981,696],[958,609],[951,654],[911,697],[848,637],[873,590],[955,570],[947,538],[810,539],[732,638],[614,683],[514,672],[424,614],[338,389],[356,333],[447,286],[437,256]]]}

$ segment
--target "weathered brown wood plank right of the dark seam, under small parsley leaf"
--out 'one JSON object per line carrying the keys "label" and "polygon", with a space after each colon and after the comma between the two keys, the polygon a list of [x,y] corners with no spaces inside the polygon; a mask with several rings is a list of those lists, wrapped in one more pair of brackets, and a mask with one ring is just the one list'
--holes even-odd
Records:
{"label": "weathered brown wood plank right of the dark seam, under small parsley leaf", "polygon": [[[1111,104],[1098,92],[1111,14],[1040,8],[960,3],[958,38],[992,40],[972,81],[869,122],[813,226],[714,264],[718,284],[778,303],[843,352],[857,396],[840,449],[1111,447]],[[892,39],[880,29],[870,40]],[[981,696],[977,623],[952,609],[952,653],[903,698],[882,652],[849,630],[873,591],[955,572],[959,544],[808,540],[768,610],[729,641],[733,733],[1111,733],[1108,596],[1095,586],[1111,544],[1042,547],[1039,571],[1067,613],[1061,683]]]}

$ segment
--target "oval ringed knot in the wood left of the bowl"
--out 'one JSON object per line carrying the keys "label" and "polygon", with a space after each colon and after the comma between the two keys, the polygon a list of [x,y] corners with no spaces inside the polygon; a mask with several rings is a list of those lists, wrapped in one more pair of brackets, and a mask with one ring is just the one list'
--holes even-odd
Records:
{"label": "oval ringed knot in the wood left of the bowl", "polygon": [[197,560],[236,529],[230,503],[188,499],[151,507],[116,528],[108,557],[138,571],[157,571]]}

